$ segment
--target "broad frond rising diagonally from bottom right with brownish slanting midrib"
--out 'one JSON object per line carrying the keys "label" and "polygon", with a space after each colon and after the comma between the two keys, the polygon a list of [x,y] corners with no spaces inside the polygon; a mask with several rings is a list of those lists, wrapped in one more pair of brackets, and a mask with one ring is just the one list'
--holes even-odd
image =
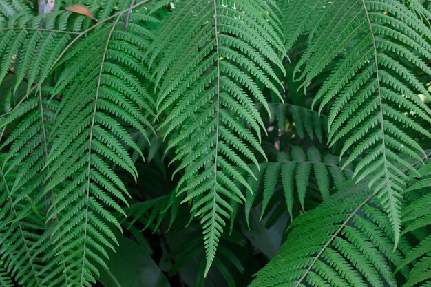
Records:
{"label": "broad frond rising diagonally from bottom right with brownish slanting midrib", "polygon": [[[281,251],[251,286],[397,286],[397,266],[409,246],[395,234],[375,195],[347,185],[328,202],[297,217]],[[406,270],[402,270],[406,274]]]}

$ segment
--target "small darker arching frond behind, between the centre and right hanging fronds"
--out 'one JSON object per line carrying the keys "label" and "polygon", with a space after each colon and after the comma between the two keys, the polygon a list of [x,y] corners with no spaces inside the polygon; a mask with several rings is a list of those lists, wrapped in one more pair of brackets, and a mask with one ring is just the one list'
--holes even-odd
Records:
{"label": "small darker arching frond behind, between the centre and right hanging fronds", "polygon": [[[246,193],[246,220],[249,220],[251,206],[255,202],[260,187],[263,187],[262,215],[266,211],[269,200],[279,185],[282,186],[287,210],[293,218],[294,198],[297,195],[302,211],[305,211],[305,198],[311,178],[315,180],[323,201],[328,200],[330,189],[348,180],[351,171],[341,171],[336,156],[326,154],[322,157],[319,149],[310,147],[304,151],[301,147],[291,146],[290,153],[280,152],[276,162],[260,164],[261,173],[256,178],[249,176],[251,190]],[[263,184],[262,184],[262,183]]]}

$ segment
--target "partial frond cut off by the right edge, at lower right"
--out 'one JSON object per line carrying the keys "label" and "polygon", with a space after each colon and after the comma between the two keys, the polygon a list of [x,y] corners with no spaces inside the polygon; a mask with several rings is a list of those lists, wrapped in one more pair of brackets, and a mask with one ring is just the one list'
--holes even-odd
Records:
{"label": "partial frond cut off by the right edge, at lower right", "polygon": [[[412,266],[403,287],[430,286],[431,284],[431,164],[428,161],[418,169],[421,178],[412,178],[406,189],[406,206],[403,209],[402,234],[416,238],[416,244],[398,266]],[[410,269],[410,268],[409,268]]]}

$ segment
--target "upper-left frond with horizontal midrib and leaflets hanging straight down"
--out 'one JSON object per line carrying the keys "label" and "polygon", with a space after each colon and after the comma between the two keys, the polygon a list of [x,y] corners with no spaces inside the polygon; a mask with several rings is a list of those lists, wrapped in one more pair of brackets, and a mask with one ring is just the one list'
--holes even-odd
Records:
{"label": "upper-left frond with horizontal midrib and leaflets hanging straight down", "polygon": [[56,12],[46,18],[23,13],[12,17],[0,28],[0,82],[14,69],[14,93],[23,80],[28,82],[28,93],[33,84],[40,87],[72,36],[81,30],[84,18],[70,12]]}

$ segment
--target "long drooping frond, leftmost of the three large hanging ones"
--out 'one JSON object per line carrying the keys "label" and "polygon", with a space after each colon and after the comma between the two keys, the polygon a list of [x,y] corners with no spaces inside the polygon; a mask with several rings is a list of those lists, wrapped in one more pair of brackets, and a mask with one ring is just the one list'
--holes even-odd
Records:
{"label": "long drooping frond, leftmost of the three large hanging ones", "polygon": [[55,193],[46,220],[56,220],[51,241],[70,286],[91,286],[98,274],[94,263],[105,266],[105,250],[114,248],[112,226],[120,225],[112,211],[123,213],[118,201],[127,204],[128,195],[114,165],[137,176],[128,149],[140,149],[128,129],[147,137],[145,128],[151,126],[153,100],[142,65],[148,21],[154,19],[145,10],[136,11],[125,30],[123,12],[94,28],[66,54],[67,65],[50,95],[61,96],[61,103],[43,164],[43,191]]}

